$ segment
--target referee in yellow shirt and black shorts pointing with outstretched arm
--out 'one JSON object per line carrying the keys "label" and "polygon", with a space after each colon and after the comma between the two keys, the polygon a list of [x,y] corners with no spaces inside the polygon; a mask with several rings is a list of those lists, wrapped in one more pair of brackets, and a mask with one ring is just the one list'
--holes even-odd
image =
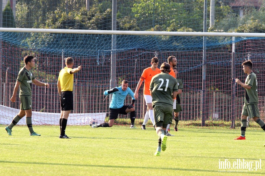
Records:
{"label": "referee in yellow shirt and black shorts pointing with outstretched arm", "polygon": [[61,102],[61,116],[59,120],[60,125],[60,136],[59,138],[69,137],[65,134],[65,128],[67,125],[67,119],[71,110],[74,110],[74,97],[73,97],[73,88],[74,88],[74,73],[77,73],[81,70],[81,66],[73,69],[74,59],[72,57],[67,57],[65,59],[65,65],[58,77],[57,87],[60,95]]}

